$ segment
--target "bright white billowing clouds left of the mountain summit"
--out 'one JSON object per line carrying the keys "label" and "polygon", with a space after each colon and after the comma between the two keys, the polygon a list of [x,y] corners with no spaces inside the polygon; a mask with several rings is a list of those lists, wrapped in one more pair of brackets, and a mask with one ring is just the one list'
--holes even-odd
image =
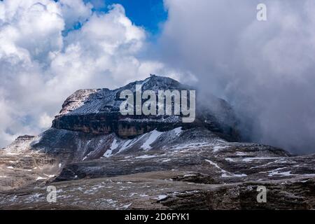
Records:
{"label": "bright white billowing clouds left of the mountain summit", "polygon": [[93,13],[82,0],[0,1],[0,42],[0,146],[49,127],[80,88],[118,87],[164,69],[138,57],[146,31],[120,5]]}

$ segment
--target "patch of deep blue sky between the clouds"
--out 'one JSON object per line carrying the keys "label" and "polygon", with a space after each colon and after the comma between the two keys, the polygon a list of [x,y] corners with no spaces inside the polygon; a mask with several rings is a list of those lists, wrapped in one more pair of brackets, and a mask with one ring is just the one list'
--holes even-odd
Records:
{"label": "patch of deep blue sky between the clouds", "polygon": [[[87,2],[87,0],[86,0]],[[160,24],[167,20],[167,11],[162,0],[91,0],[99,11],[108,10],[107,6],[119,3],[124,6],[127,18],[135,25],[144,27],[151,34],[158,34]]]}

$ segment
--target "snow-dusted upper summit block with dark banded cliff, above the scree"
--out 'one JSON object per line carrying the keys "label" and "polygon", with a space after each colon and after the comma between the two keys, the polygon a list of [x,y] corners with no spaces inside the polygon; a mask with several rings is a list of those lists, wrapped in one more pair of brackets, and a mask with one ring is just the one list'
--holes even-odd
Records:
{"label": "snow-dusted upper summit block with dark banded cliff, above the scree", "polygon": [[133,138],[152,130],[167,131],[176,127],[207,127],[221,137],[237,141],[234,113],[223,99],[214,96],[207,104],[197,98],[197,117],[194,123],[182,123],[181,116],[122,116],[119,99],[123,90],[136,91],[136,85],[143,91],[153,90],[193,90],[172,78],[151,76],[146,80],[130,83],[116,90],[78,90],[62,106],[62,111],[52,122],[52,127],[87,134],[116,133],[122,138]]}

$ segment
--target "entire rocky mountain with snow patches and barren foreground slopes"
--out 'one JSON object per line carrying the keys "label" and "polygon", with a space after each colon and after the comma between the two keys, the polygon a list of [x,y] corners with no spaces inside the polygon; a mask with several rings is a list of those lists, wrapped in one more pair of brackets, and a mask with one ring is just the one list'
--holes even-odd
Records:
{"label": "entire rocky mountain with snow patches and barren foreground slopes", "polygon": [[49,130],[0,151],[0,209],[315,209],[315,155],[241,142],[230,104],[198,92],[193,123],[123,116],[120,92],[136,85],[193,90],[153,75],[73,93]]}

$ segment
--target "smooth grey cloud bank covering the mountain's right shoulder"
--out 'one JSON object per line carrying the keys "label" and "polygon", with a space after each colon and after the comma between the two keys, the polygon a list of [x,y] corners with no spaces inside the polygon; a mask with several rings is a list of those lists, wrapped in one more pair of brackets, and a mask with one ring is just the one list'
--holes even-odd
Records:
{"label": "smooth grey cloud bank covering the mountain's right shoulder", "polygon": [[[265,3],[267,21],[256,20]],[[165,0],[165,63],[232,102],[245,137],[315,152],[315,2]]]}

